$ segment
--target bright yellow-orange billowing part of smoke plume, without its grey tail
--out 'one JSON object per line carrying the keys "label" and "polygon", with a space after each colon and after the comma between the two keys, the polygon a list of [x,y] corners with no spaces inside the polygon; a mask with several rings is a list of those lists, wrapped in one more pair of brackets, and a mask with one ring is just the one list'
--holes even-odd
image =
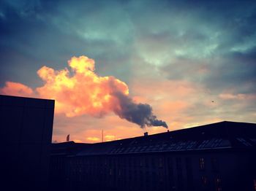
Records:
{"label": "bright yellow-orange billowing part of smoke plume, without its grey tail", "polygon": [[67,117],[91,114],[100,117],[112,111],[116,104],[113,92],[128,95],[124,82],[115,77],[99,77],[94,73],[94,60],[86,56],[73,57],[68,61],[74,75],[69,70],[55,71],[43,66],[37,74],[45,85],[37,88],[41,98],[56,100],[56,113]]}

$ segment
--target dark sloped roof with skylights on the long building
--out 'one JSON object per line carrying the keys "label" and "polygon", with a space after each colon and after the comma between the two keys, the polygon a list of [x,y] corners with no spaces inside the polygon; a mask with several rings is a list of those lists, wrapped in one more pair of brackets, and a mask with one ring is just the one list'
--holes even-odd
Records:
{"label": "dark sloped roof with skylights on the long building", "polygon": [[256,124],[224,121],[150,136],[88,144],[88,147],[72,154],[120,155],[244,147],[256,147]]}

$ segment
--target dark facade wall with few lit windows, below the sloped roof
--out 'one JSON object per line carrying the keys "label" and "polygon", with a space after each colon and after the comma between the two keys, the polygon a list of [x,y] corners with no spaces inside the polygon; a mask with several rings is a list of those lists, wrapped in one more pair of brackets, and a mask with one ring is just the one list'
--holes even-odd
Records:
{"label": "dark facade wall with few lit windows, below the sloped roof", "polygon": [[[249,159],[232,149],[66,157],[67,190],[253,190]],[[203,158],[203,168],[200,168]]]}

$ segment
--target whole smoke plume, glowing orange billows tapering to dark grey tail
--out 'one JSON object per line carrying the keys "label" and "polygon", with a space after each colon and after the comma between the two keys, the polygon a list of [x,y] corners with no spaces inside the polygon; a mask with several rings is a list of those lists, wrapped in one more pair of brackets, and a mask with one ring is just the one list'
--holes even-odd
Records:
{"label": "whole smoke plume, glowing orange billows tapering to dark grey tail", "polygon": [[102,117],[114,112],[121,119],[140,125],[163,126],[166,122],[157,120],[148,104],[137,104],[129,97],[128,86],[115,77],[99,77],[94,73],[94,60],[86,56],[72,57],[68,61],[72,70],[65,68],[55,71],[43,66],[37,74],[45,82],[42,87],[32,90],[17,82],[6,82],[0,93],[9,95],[34,95],[39,98],[56,100],[56,113],[67,117],[90,114]]}

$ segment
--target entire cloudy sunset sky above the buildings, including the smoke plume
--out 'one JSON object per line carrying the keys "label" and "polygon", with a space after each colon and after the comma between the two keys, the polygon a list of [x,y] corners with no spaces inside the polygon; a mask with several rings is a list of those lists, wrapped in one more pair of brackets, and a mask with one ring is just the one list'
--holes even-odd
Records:
{"label": "entire cloudy sunset sky above the buildings, including the smoke plume", "polygon": [[256,122],[255,23],[256,1],[2,0],[0,93],[55,99],[53,142]]}

